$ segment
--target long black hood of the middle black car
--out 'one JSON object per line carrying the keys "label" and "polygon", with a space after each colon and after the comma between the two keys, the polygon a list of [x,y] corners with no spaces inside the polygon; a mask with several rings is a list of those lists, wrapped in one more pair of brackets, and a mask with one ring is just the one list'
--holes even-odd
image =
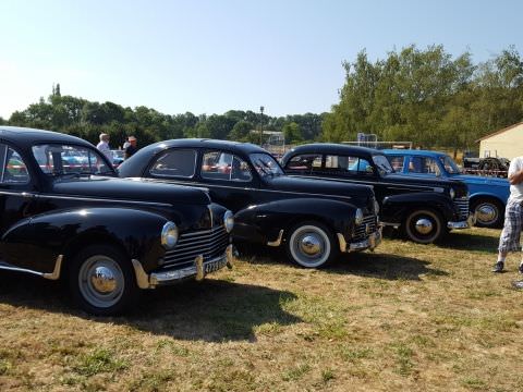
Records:
{"label": "long black hood of the middle black car", "polygon": [[277,191],[306,193],[325,196],[341,196],[363,198],[374,196],[373,187],[368,185],[348,184],[330,180],[317,180],[291,175],[277,175],[266,179],[267,185]]}

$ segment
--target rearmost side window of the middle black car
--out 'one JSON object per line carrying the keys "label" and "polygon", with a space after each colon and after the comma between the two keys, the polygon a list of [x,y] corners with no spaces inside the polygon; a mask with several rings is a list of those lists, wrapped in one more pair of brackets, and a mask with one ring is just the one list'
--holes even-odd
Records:
{"label": "rearmost side window of the middle black car", "polygon": [[156,160],[149,170],[158,176],[192,177],[196,172],[196,151],[171,149]]}

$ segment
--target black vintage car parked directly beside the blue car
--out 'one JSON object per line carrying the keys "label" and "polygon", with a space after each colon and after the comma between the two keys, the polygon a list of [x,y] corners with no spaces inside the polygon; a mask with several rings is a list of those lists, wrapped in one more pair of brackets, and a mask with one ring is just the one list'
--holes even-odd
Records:
{"label": "black vintage car parked directly beside the blue car", "polygon": [[401,229],[416,243],[433,243],[452,229],[473,224],[465,184],[397,174],[376,149],[308,144],[288,151],[281,164],[291,175],[372,185],[382,224]]}

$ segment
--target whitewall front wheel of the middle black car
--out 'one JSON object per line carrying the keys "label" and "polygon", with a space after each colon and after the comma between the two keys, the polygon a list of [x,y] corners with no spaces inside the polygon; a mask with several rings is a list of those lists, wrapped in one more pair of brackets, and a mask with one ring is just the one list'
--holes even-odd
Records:
{"label": "whitewall front wheel of the middle black car", "polygon": [[339,245],[332,232],[318,222],[294,225],[285,238],[287,256],[304,268],[321,268],[339,255]]}

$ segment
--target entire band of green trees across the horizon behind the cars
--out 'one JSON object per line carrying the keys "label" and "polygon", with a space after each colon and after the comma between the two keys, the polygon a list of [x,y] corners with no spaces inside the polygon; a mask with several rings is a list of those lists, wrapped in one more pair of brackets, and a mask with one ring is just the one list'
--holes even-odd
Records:
{"label": "entire band of green trees across the horizon behind the cars", "polygon": [[475,140],[523,120],[523,61],[515,48],[474,64],[472,53],[455,58],[442,46],[409,46],[369,61],[365,50],[344,62],[340,100],[328,113],[270,117],[251,110],[223,114],[165,114],[62,96],[60,85],[0,124],[48,128],[112,146],[134,135],[144,146],[180,137],[259,143],[254,130],[281,131],[287,144],[355,140],[358,132],[379,140],[410,140],[415,146],[477,148]]}

